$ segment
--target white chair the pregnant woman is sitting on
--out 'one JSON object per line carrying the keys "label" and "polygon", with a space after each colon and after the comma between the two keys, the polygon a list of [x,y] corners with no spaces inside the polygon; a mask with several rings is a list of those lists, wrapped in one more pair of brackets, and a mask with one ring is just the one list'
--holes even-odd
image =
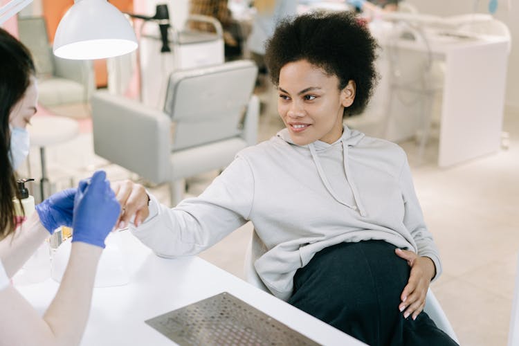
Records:
{"label": "white chair the pregnant woman is sitting on", "polygon": [[[245,253],[245,261],[244,261],[244,274],[245,280],[249,284],[256,286],[258,289],[262,289],[267,293],[271,293],[266,288],[265,284],[262,282],[260,277],[257,275],[256,269],[254,268],[254,262],[260,258],[261,255],[266,253],[266,246],[263,244],[260,237],[258,237],[255,230],[253,230],[253,235],[251,237],[251,241],[248,243],[246,253]],[[519,276],[518,276],[519,277]],[[519,281],[519,280],[518,280]],[[424,311],[428,314],[428,316],[435,322],[437,327],[444,331],[450,338],[459,343],[457,336],[454,332],[453,327],[450,325],[444,310],[441,309],[441,306],[436,299],[434,293],[429,289],[427,292],[426,298],[426,307]],[[519,320],[519,311],[517,313]],[[519,338],[519,336],[516,336]],[[509,344],[510,346],[511,344]]]}

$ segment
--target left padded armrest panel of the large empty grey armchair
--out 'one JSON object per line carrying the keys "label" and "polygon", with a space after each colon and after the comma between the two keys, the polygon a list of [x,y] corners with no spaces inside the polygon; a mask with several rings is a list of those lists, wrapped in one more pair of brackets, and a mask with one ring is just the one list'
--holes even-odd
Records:
{"label": "left padded armrest panel of the large empty grey armchair", "polygon": [[91,104],[95,154],[154,183],[170,180],[169,116],[106,91]]}

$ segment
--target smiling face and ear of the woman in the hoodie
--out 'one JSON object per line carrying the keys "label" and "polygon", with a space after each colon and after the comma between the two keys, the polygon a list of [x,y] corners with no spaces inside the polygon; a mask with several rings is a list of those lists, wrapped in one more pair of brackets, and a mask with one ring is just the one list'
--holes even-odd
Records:
{"label": "smiling face and ear of the woman in the hoodie", "polygon": [[336,75],[329,75],[307,60],[289,62],[280,70],[277,111],[293,143],[316,140],[334,143],[343,134],[343,113],[355,98],[350,80],[340,90]]}

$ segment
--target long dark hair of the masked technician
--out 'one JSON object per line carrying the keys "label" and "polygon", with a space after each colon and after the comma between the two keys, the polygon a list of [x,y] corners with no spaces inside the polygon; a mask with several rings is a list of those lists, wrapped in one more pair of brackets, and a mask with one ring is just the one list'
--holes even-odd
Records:
{"label": "long dark hair of the masked technician", "polygon": [[21,197],[9,160],[9,114],[24,96],[31,75],[35,75],[35,66],[28,49],[0,28],[0,239],[14,232],[17,224],[12,199]]}

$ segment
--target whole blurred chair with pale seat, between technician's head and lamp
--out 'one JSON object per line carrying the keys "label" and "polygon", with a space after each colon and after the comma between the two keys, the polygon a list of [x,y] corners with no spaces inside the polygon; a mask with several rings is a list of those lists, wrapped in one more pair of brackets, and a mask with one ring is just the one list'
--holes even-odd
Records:
{"label": "whole blurred chair with pale seat, between technician's head and lamp", "polygon": [[39,103],[55,112],[64,104],[87,104],[95,89],[92,62],[53,55],[43,17],[20,17],[18,30],[35,60]]}

